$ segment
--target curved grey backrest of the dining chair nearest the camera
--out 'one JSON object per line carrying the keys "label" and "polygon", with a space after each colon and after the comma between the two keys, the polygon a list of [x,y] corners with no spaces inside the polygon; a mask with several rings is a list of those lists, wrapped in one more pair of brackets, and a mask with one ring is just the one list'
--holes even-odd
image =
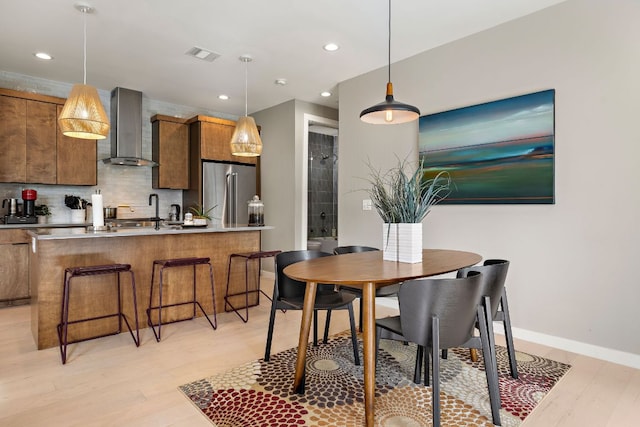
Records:
{"label": "curved grey backrest of the dining chair nearest the camera", "polygon": [[466,343],[473,333],[481,274],[469,272],[466,277],[416,279],[402,284],[398,293],[402,335],[409,341],[429,346],[431,319],[440,320],[440,348],[453,348]]}

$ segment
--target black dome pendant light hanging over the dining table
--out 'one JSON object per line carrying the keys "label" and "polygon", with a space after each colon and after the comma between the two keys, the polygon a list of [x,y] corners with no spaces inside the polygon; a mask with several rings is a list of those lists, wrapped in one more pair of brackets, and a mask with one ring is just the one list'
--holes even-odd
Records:
{"label": "black dome pendant light hanging over the dining table", "polygon": [[391,83],[391,0],[389,0],[389,67],[387,80],[387,96],[379,104],[362,110],[360,120],[374,125],[393,125],[406,123],[420,117],[420,110],[413,105],[404,104],[393,99]]}

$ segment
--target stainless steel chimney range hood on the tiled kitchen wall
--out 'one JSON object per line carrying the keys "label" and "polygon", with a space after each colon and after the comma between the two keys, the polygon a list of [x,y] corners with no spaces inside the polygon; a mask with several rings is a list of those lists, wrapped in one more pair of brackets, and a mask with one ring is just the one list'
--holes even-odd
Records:
{"label": "stainless steel chimney range hood on the tiled kitchen wall", "polygon": [[156,166],[142,158],[142,92],[117,87],[111,91],[111,157],[104,163]]}

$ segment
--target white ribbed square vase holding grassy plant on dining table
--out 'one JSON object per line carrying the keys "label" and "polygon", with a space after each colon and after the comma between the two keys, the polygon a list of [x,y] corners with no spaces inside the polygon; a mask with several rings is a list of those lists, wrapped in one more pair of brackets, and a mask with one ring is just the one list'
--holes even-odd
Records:
{"label": "white ribbed square vase holding grassy plant on dining table", "polygon": [[382,224],[382,259],[422,262],[422,223]]}

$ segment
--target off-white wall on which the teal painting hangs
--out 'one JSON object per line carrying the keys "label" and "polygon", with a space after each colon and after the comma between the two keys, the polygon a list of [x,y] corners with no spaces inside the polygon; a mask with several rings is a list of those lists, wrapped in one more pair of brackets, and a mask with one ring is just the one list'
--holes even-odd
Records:
{"label": "off-white wall on which the teal painting hangs", "polygon": [[[556,204],[436,206],[432,248],[512,261],[513,325],[577,346],[640,355],[640,2],[570,0],[393,64],[396,99],[430,114],[556,90]],[[384,49],[381,46],[380,49]],[[417,159],[417,123],[373,126],[386,69],[340,85],[340,244],[380,247],[362,211],[367,157]],[[636,361],[640,360],[636,358]]]}

